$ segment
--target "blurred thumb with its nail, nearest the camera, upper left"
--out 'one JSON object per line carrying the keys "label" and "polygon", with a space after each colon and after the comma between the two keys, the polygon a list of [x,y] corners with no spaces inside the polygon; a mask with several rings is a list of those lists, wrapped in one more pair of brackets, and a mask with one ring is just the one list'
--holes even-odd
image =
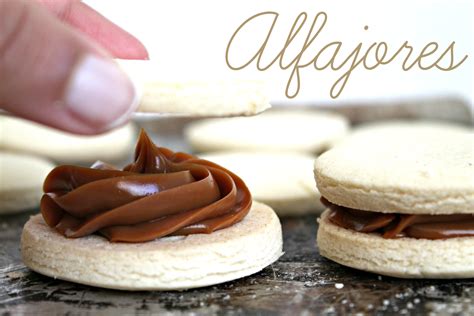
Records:
{"label": "blurred thumb with its nail, nearest the camera, upper left", "polygon": [[136,105],[132,82],[104,50],[33,1],[0,1],[0,107],[96,134]]}

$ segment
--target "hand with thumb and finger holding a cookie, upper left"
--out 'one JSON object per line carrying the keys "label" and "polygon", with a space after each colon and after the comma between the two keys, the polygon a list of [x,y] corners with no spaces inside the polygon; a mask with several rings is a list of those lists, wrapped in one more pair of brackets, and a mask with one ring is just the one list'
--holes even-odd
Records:
{"label": "hand with thumb and finger holding a cookie, upper left", "polygon": [[[130,107],[134,92],[117,97],[111,96],[110,91],[101,95],[97,88],[92,96],[95,94],[98,106],[91,109],[98,114],[92,115],[81,109],[82,103],[88,104],[87,96],[80,95],[84,89],[66,91],[73,85],[71,78],[76,78],[77,70],[83,66],[81,62],[91,56],[89,60],[93,62],[85,67],[88,71],[82,73],[77,86],[87,86],[88,78],[94,83],[100,80],[100,76],[93,76],[99,68],[106,69],[102,72],[112,77],[116,67],[112,58],[148,59],[148,52],[137,38],[77,0],[0,1],[3,110],[78,134],[98,134],[123,124],[133,110]],[[102,81],[107,81],[106,75]],[[125,74],[118,77],[121,78],[115,83],[99,82],[96,86],[115,84],[116,91],[121,91],[121,86],[134,91]],[[97,110],[102,106],[99,101],[104,101],[103,111]]]}

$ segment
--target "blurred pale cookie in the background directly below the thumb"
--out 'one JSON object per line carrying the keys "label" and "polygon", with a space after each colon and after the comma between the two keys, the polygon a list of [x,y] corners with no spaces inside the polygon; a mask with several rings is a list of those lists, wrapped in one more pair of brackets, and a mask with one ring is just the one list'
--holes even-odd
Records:
{"label": "blurred pale cookie in the background directly below the thumb", "polygon": [[119,161],[130,154],[135,128],[125,125],[98,136],[73,135],[15,117],[1,117],[0,148],[48,157],[58,163]]}

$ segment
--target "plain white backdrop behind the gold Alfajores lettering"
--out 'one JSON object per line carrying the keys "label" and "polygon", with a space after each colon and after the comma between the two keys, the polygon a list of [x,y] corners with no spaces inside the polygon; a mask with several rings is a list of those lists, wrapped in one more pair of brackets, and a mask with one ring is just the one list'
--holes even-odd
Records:
{"label": "plain white backdrop behind the gold Alfajores lettering", "polygon": [[[471,1],[85,1],[103,15],[138,37],[147,47],[158,71],[174,76],[252,76],[269,82],[271,98],[279,102],[327,103],[380,101],[420,96],[457,96],[472,105],[473,5]],[[225,49],[235,29],[248,17],[276,11],[280,18],[276,34],[286,38],[296,15],[306,11],[312,19],[324,11],[328,21],[316,41],[320,46],[340,40],[345,54],[359,42],[368,47],[385,41],[396,50],[409,41],[420,51],[436,41],[440,51],[452,41],[455,60],[468,59],[458,69],[442,72],[401,69],[403,58],[373,71],[356,68],[341,96],[329,96],[331,85],[342,75],[332,70],[301,72],[299,95],[284,94],[290,70],[276,66],[265,72],[252,64],[239,73],[225,63]],[[364,31],[368,25],[369,30]],[[307,25],[309,28],[309,25]],[[259,32],[255,32],[255,43]],[[260,33],[261,35],[261,33]],[[278,40],[275,41],[277,43]],[[443,49],[444,50],[444,49]],[[343,49],[344,51],[344,49]],[[245,53],[242,51],[242,54]],[[248,53],[248,52],[247,52]],[[449,60],[447,60],[449,61]],[[251,69],[250,69],[251,68]]]}

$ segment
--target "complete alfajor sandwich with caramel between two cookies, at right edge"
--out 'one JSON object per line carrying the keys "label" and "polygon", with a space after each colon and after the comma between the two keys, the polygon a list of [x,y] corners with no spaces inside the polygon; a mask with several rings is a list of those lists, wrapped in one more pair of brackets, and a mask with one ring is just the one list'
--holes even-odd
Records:
{"label": "complete alfajor sandwich with caramel between two cookies, at right edge", "polygon": [[357,132],[321,155],[322,256],[401,278],[474,277],[474,134],[435,123]]}

